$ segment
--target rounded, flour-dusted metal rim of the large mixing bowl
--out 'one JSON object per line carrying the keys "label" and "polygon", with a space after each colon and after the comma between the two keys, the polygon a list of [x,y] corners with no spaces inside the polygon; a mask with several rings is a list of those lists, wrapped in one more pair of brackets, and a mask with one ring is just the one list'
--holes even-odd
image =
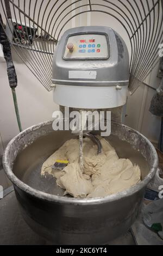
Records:
{"label": "rounded, flour-dusted metal rim of the large mixing bowl", "polygon": [[97,197],[97,198],[69,198],[69,197],[64,197],[64,196],[57,196],[54,194],[49,194],[46,192],[42,192],[39,190],[36,190],[35,188],[30,187],[23,181],[17,178],[17,176],[12,172],[12,168],[10,168],[8,162],[9,162],[9,152],[12,148],[12,144],[17,140],[18,137],[24,137],[24,135],[27,135],[27,133],[31,131],[35,131],[37,129],[40,129],[42,126],[48,126],[52,124],[52,121],[44,121],[43,123],[39,123],[33,126],[28,127],[27,129],[23,130],[22,132],[18,133],[14,138],[11,139],[11,141],[8,143],[7,147],[5,148],[4,154],[3,154],[3,168],[5,173],[7,174],[8,178],[11,180],[12,184],[14,184],[14,187],[20,188],[20,190],[28,193],[30,196],[39,198],[41,200],[46,200],[48,202],[52,203],[58,203],[58,204],[76,204],[76,205],[92,205],[92,204],[102,204],[102,203],[108,203],[112,202],[115,200],[120,200],[126,197],[129,197],[136,192],[142,190],[143,188],[146,187],[149,181],[153,178],[156,169],[158,168],[158,155],[156,153],[156,150],[153,146],[153,144],[145,137],[143,136],[140,132],[134,130],[133,128],[130,128],[127,125],[117,123],[112,121],[112,123],[115,123],[117,125],[121,125],[122,127],[127,127],[130,131],[137,133],[137,135],[140,135],[146,143],[150,146],[152,153],[154,154],[154,163],[152,168],[149,170],[149,173],[145,176],[145,178],[140,181],[138,184],[128,188],[127,190],[124,190],[122,192],[118,192],[116,194],[111,194],[109,196],[105,197]]}

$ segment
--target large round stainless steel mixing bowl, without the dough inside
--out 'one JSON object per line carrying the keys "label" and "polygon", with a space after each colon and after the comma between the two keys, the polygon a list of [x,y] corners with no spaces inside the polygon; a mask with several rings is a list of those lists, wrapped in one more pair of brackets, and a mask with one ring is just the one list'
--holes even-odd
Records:
{"label": "large round stainless steel mixing bowl, without the dough inside", "polygon": [[145,188],[158,167],[153,145],[139,132],[112,123],[105,137],[122,158],[141,168],[142,181],[126,191],[104,198],[63,197],[49,175],[41,177],[41,166],[67,139],[70,131],[53,131],[52,121],[32,126],[10,141],[3,166],[14,184],[24,220],[53,244],[106,244],[126,232],[139,214]]}

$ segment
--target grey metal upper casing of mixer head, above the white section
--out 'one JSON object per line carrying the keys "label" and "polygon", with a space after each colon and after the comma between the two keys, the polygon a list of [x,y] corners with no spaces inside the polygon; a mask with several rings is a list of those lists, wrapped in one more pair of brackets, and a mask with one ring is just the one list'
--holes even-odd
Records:
{"label": "grey metal upper casing of mixer head, above the white section", "polygon": [[[84,36],[87,34],[93,35],[93,38],[96,38],[98,35],[106,36],[108,45],[101,45],[101,51],[103,48],[107,48],[109,57],[98,57],[100,52],[95,52],[91,53],[92,56],[87,58],[89,53],[84,50],[84,56],[69,58],[65,61],[63,54],[67,40],[73,36],[78,36],[78,41],[76,42],[78,50],[79,39],[85,38]],[[90,38],[92,37],[90,36]],[[101,41],[99,43],[102,44]],[[80,78],[79,75],[78,77],[71,78],[69,75],[70,72],[84,72],[84,70],[97,72],[96,78],[88,78],[86,76],[84,76],[85,78]],[[62,35],[59,44],[55,48],[52,65],[52,83],[70,86],[128,86],[129,54],[125,42],[120,35],[109,27],[85,26],[68,29]]]}

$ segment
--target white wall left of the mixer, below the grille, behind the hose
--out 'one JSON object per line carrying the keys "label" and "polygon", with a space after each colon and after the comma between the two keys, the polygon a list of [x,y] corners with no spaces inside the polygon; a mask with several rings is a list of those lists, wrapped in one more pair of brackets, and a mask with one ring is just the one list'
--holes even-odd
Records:
{"label": "white wall left of the mixer, below the grille, behind the hose", "polygon": [[[20,111],[22,128],[52,118],[52,112],[58,108],[53,102],[52,92],[47,90],[35,78],[32,72],[22,63],[15,52],[12,52],[17,74],[17,101]],[[18,133],[17,120],[9,87],[5,60],[0,58],[1,93],[0,93],[0,131],[3,145]]]}

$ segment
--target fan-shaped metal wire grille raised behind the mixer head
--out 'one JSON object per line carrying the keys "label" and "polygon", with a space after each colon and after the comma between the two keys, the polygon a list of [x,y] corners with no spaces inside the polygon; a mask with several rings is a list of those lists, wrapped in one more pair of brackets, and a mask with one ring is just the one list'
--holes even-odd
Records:
{"label": "fan-shaped metal wire grille raised behind the mixer head", "polygon": [[0,3],[8,35],[14,33],[10,38],[12,46],[47,90],[51,90],[55,45],[67,23],[87,12],[110,15],[126,31],[131,47],[131,93],[159,61],[158,47],[163,38],[161,0],[1,0]]}

